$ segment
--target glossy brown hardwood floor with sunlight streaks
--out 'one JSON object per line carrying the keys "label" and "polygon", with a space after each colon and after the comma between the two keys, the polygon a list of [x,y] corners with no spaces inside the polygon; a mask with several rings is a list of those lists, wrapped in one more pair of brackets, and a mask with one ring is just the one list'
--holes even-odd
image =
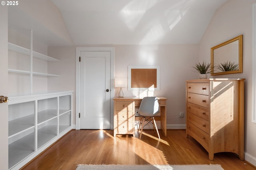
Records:
{"label": "glossy brown hardwood floor with sunlight streaks", "polygon": [[116,135],[113,130],[71,130],[23,170],[75,170],[78,164],[220,164],[225,170],[256,170],[232,153],[216,153],[214,160],[186,130]]}

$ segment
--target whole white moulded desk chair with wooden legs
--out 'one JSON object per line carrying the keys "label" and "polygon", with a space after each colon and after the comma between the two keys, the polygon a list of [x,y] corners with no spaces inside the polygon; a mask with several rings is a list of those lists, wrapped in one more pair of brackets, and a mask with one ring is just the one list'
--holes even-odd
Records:
{"label": "whole white moulded desk chair with wooden legs", "polygon": [[[144,97],[140,103],[140,108],[138,114],[142,115],[142,119],[140,121],[140,126],[138,131],[140,131],[140,138],[142,135],[143,127],[148,123],[153,125],[154,130],[158,134],[158,138],[160,139],[160,135],[156,126],[156,121],[154,116],[160,112],[158,99],[156,97]],[[151,120],[150,120],[151,119]],[[144,122],[147,121],[147,124],[144,125]],[[140,129],[141,127],[141,129]]]}

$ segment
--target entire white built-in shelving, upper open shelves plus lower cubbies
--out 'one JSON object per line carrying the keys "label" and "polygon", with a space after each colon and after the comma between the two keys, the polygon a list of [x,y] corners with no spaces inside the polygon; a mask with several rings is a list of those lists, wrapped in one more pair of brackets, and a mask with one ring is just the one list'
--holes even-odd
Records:
{"label": "entire white built-in shelving, upper open shelves plus lower cubbies", "polygon": [[[30,38],[31,49],[8,43],[11,51],[10,59],[18,60],[18,64],[12,63],[12,68],[8,69],[9,76],[15,83],[22,82],[25,84],[22,84],[24,87],[29,87],[24,90],[17,83],[14,89],[18,90],[12,91],[11,89],[9,91],[11,94],[8,94],[8,164],[10,170],[20,169],[72,129],[72,91],[44,92],[46,83],[41,88],[37,87],[36,93],[33,92],[34,76],[45,77],[44,80],[47,80],[49,76],[59,76],[47,73],[48,62],[59,60],[33,51],[32,31]],[[34,58],[39,60],[36,61],[37,65],[33,66]],[[43,67],[46,71],[34,71],[37,67]],[[19,89],[22,90],[19,91]],[[42,93],[38,89],[43,89]]]}

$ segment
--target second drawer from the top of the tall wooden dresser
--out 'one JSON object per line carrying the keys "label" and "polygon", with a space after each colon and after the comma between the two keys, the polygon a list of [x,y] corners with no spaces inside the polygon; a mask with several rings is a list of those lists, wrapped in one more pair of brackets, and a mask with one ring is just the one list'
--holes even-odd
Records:
{"label": "second drawer from the top of the tall wooden dresser", "polygon": [[210,107],[209,96],[207,95],[199,95],[195,93],[187,93],[187,101],[190,103],[194,103],[196,105],[200,105],[202,107]]}

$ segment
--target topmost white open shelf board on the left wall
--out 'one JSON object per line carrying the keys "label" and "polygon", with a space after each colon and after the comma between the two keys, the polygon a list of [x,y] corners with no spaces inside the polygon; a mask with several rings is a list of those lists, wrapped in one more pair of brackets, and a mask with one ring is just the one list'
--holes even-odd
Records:
{"label": "topmost white open shelf board on the left wall", "polygon": [[[26,55],[30,55],[30,49],[21,47],[19,45],[13,44],[13,43],[8,43],[8,49],[10,49],[12,51],[19,52],[19,53],[23,53],[23,54],[26,54]],[[33,51],[32,55],[35,58],[42,59],[42,60],[45,60],[45,61],[59,61],[58,59],[52,58],[48,55],[38,53],[36,51]]]}

